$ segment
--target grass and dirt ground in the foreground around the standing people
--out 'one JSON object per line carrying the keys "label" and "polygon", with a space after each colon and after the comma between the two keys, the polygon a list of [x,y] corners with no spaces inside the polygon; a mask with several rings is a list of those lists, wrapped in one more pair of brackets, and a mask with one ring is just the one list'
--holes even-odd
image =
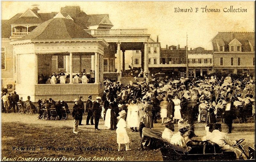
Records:
{"label": "grass and dirt ground in the foreground around the standing people", "polygon": [[[127,128],[132,150],[125,151],[122,145],[124,151],[118,152],[116,131],[105,127],[103,119],[100,119],[100,131],[96,131],[93,125],[83,125],[78,127],[79,133],[74,134],[74,120],[68,117],[66,121],[45,121],[37,120],[37,114],[2,113],[1,161],[162,161],[159,150],[140,150],[139,132],[131,132]],[[85,121],[86,115],[83,116],[82,124]],[[174,126],[177,132],[177,124]],[[195,134],[198,137],[195,139],[201,139],[206,134],[204,126],[205,123],[196,125]],[[222,124],[222,127],[222,132],[227,133],[226,124]],[[164,125],[158,120],[153,129],[163,131]],[[248,153],[248,146],[253,147],[255,142],[255,123],[253,120],[234,123],[229,137],[232,140],[244,138],[242,145]]]}

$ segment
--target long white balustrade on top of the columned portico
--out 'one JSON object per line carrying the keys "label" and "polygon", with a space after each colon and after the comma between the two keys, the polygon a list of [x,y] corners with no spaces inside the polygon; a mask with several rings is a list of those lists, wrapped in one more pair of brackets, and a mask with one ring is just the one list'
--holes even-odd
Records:
{"label": "long white balustrade on top of the columned portico", "polygon": [[146,35],[148,29],[84,29],[91,35]]}

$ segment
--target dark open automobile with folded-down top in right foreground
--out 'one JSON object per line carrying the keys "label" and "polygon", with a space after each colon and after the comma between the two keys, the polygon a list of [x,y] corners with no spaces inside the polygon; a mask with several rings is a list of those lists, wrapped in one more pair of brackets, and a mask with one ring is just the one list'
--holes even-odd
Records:
{"label": "dark open automobile with folded-down top in right foreground", "polygon": [[[162,132],[143,128],[141,143],[144,149],[160,149],[164,161],[212,161],[212,160],[236,160],[236,154],[233,151],[223,151],[217,144],[206,142],[202,147],[193,147],[190,151],[179,146],[172,145],[165,141]],[[249,146],[249,155],[247,155],[240,143],[244,139],[239,140],[236,144],[243,151],[247,159],[255,160],[255,149]]]}

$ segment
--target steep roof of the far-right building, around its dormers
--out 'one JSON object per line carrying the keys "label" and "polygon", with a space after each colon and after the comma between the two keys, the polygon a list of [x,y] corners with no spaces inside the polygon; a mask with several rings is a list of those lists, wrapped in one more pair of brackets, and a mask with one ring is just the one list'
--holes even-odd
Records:
{"label": "steep roof of the far-right building, around its dormers", "polygon": [[[213,51],[218,51],[217,41],[222,39],[224,44],[229,44],[233,39],[241,43],[242,52],[251,52],[251,47],[248,40],[255,40],[255,32],[219,32],[212,39]],[[225,46],[225,51],[228,51],[228,46]]]}

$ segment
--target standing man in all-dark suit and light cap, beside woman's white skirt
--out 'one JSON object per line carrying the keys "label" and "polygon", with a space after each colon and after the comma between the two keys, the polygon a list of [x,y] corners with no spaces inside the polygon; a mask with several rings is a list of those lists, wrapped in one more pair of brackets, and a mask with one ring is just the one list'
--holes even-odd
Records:
{"label": "standing man in all-dark suit and light cap, beside woman's white skirt", "polygon": [[96,97],[96,102],[94,102],[92,104],[92,114],[93,114],[93,117],[94,117],[94,122],[95,122],[95,130],[100,130],[98,128],[98,125],[99,125],[99,120],[100,120],[100,116],[101,116],[101,111],[102,111],[102,108],[100,106],[100,102],[101,102],[101,97]]}

